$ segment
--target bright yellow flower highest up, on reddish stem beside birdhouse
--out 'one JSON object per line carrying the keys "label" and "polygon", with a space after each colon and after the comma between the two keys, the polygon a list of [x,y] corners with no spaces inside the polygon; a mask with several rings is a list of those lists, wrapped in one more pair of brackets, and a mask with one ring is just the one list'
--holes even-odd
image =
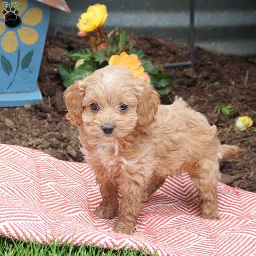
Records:
{"label": "bright yellow flower highest up, on reddish stem beside birdhouse", "polygon": [[92,32],[101,28],[108,17],[107,7],[104,4],[89,6],[87,12],[81,14],[77,27],[82,32]]}

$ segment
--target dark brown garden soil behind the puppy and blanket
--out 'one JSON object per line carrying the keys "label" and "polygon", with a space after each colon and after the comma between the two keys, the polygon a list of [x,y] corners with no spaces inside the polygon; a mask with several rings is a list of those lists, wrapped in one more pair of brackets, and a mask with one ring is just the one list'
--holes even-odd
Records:
{"label": "dark brown garden soil behind the puppy and blanket", "polygon": [[[154,64],[189,59],[185,46],[142,35],[130,35],[129,40]],[[32,108],[0,109],[0,143],[36,148],[61,160],[83,160],[76,128],[64,117],[64,87],[58,64],[70,63],[66,51],[84,47],[87,38],[61,34],[47,38],[38,78],[44,103]],[[221,143],[242,146],[245,151],[241,157],[221,163],[223,182],[256,192],[256,133],[252,129],[236,131],[234,127],[241,115],[251,116],[256,124],[256,57],[227,56],[196,48],[194,70],[178,67],[166,71],[180,82],[163,97],[163,104],[172,103],[175,95],[182,96],[217,125]],[[217,115],[218,105],[232,105],[233,111],[228,116]]]}

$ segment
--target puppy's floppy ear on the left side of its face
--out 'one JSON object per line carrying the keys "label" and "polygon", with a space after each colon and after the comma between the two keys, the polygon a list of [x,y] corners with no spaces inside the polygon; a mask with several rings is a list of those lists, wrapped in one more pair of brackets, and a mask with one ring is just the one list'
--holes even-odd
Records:
{"label": "puppy's floppy ear on the left side of its face", "polygon": [[85,87],[84,81],[76,81],[64,91],[64,101],[67,106],[66,118],[77,127],[82,124],[82,100]]}

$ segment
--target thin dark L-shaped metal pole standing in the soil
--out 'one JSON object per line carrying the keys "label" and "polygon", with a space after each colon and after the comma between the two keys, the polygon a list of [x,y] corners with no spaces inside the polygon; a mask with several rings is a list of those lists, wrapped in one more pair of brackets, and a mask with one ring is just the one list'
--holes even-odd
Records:
{"label": "thin dark L-shaped metal pole standing in the soil", "polygon": [[195,64],[195,0],[190,0],[189,57],[186,62],[167,63],[164,67],[192,67]]}

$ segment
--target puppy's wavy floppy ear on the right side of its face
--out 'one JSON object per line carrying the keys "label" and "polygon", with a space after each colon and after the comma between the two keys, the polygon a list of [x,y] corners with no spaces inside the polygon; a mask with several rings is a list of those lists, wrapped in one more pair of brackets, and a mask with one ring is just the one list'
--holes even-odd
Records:
{"label": "puppy's wavy floppy ear on the right side of its face", "polygon": [[152,85],[137,81],[134,88],[137,93],[137,128],[143,130],[151,123],[155,122],[158,105],[160,104],[160,97]]}

